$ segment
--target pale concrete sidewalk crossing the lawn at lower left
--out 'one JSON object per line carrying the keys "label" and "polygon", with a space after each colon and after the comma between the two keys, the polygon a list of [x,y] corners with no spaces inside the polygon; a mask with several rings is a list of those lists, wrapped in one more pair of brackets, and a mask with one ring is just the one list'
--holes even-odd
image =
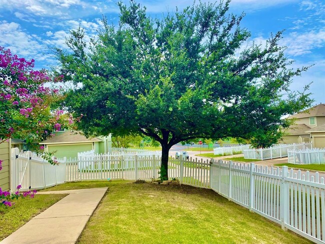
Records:
{"label": "pale concrete sidewalk crossing the lawn at lower left", "polygon": [[75,243],[106,190],[107,187],[38,192],[37,194],[68,195],[0,243]]}

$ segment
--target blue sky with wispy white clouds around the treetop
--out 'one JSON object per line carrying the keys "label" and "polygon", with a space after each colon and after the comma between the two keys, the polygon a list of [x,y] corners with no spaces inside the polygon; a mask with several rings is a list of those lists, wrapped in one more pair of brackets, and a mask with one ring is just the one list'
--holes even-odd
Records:
{"label": "blue sky with wispy white clouds around the treetop", "polygon": [[[127,3],[127,1],[124,1]],[[191,0],[138,0],[153,16],[191,5]],[[293,67],[314,64],[293,79],[291,88],[302,90],[309,82],[314,104],[325,102],[325,1],[232,0],[230,11],[246,16],[242,26],[251,31],[250,41],[265,43],[270,33],[286,29],[281,45],[294,59]],[[86,38],[96,34],[100,18],[116,23],[115,0],[0,0],[0,45],[21,57],[34,58],[36,68],[55,64],[48,46],[65,48],[70,29],[80,24]]]}

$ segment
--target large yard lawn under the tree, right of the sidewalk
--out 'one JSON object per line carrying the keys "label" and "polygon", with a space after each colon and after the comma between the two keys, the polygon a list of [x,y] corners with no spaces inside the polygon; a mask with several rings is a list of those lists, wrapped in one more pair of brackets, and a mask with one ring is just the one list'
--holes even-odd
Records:
{"label": "large yard lawn under the tree, right of the sidewalk", "polygon": [[107,186],[78,243],[311,243],[209,189],[130,181],[84,181],[53,190]]}

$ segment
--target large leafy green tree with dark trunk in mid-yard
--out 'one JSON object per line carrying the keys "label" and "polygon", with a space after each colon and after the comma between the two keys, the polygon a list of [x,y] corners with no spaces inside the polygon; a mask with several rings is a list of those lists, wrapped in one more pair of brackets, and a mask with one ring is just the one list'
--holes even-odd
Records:
{"label": "large leafy green tree with dark trunk in mid-yard", "polygon": [[160,19],[133,0],[118,6],[118,26],[103,18],[89,46],[78,28],[67,39],[70,50],[55,49],[64,79],[82,83],[68,93],[66,106],[75,116],[84,114],[78,127],[86,135],[141,133],[158,141],[162,178],[172,145],[276,135],[288,126],[284,114],[309,104],[305,90],[288,89],[307,68],[289,67],[292,61],[278,45],[281,31],[265,46],[239,51],[250,32],[240,27],[244,14],[227,13],[229,0]]}

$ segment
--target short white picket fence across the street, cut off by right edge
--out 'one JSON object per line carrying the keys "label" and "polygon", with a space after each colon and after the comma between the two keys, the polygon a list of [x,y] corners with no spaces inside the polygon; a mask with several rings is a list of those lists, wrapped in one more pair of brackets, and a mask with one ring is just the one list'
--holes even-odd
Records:
{"label": "short white picket fence across the street, cut off by right edge", "polygon": [[288,163],[294,164],[325,164],[325,148],[305,150],[288,150]]}

